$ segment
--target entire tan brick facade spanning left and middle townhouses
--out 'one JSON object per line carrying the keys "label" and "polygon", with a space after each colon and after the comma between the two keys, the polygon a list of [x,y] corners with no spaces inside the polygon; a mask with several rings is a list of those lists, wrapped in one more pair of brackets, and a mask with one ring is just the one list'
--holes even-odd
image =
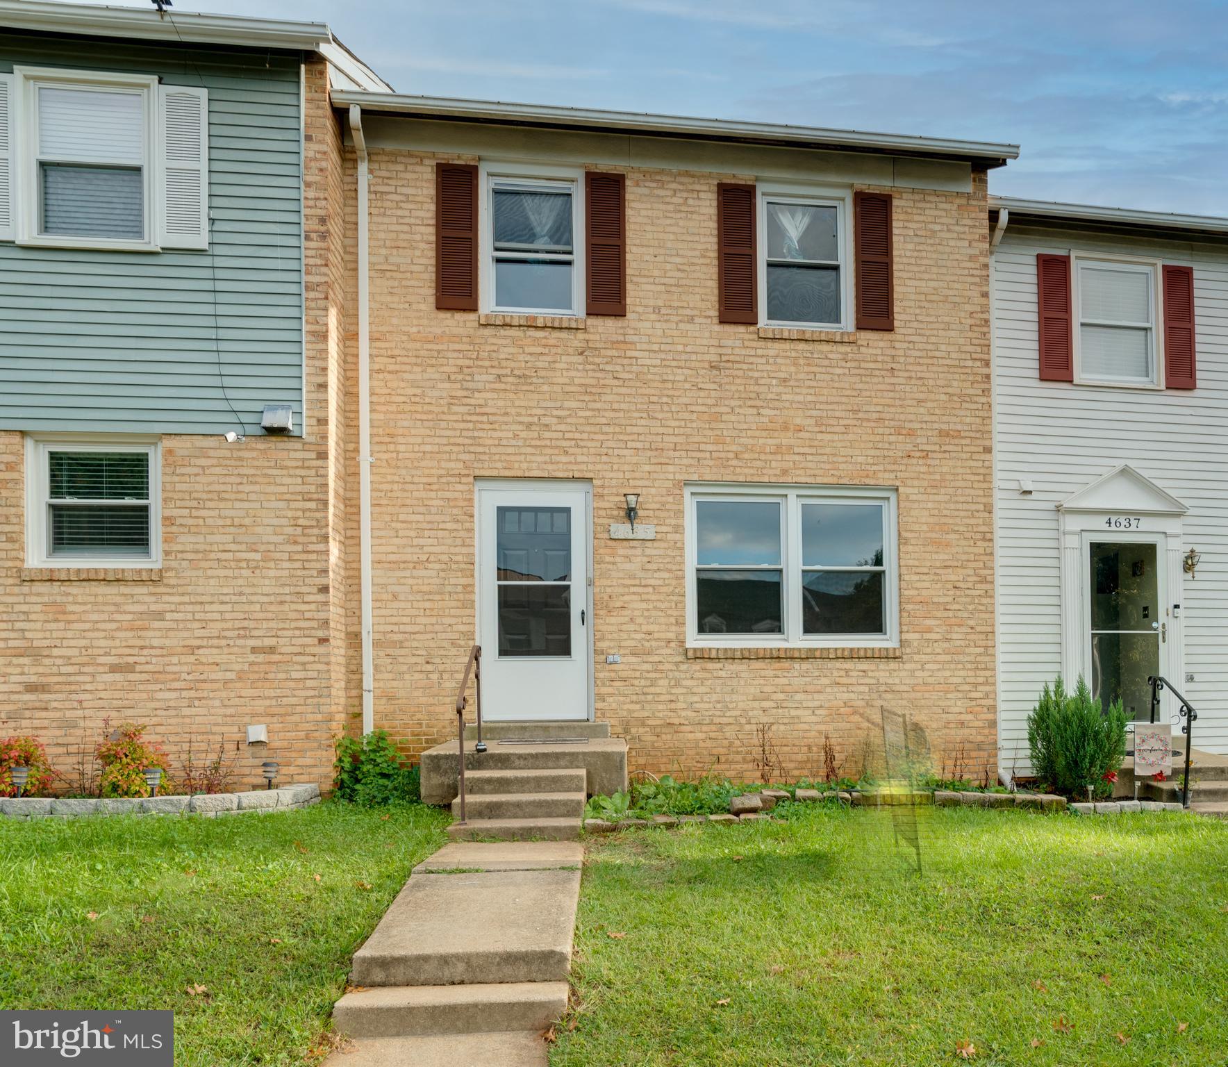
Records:
{"label": "entire tan brick facade spanning left and middle townhouses", "polygon": [[[223,743],[243,785],[265,758],[327,785],[361,728],[356,171],[323,64],[306,91],[303,437],[163,437],[161,571],[70,575],[25,567],[22,436],[0,432],[0,735],[41,737],[69,778],[107,716],[176,760]],[[855,772],[882,706],[992,769],[984,174],[889,189],[896,329],[849,335],[717,323],[715,188],[737,169],[620,168],[626,318],[436,311],[437,158],[475,156],[371,152],[375,724],[414,753],[454,728],[474,480],[585,479],[596,715],[632,770],[753,775],[770,724],[787,775],[820,769],[825,735]],[[688,650],[691,481],[898,487],[901,647]],[[607,537],[625,491],[655,540]],[[243,743],[259,722],[266,751]]]}

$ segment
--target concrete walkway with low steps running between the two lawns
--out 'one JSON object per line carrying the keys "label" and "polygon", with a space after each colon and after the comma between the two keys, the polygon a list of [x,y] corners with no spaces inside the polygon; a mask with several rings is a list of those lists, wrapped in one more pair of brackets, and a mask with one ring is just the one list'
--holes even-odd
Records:
{"label": "concrete walkway with low steps running between the two lawns", "polygon": [[354,956],[329,1067],[544,1067],[567,1007],[580,866],[572,841],[453,842],[419,863]]}

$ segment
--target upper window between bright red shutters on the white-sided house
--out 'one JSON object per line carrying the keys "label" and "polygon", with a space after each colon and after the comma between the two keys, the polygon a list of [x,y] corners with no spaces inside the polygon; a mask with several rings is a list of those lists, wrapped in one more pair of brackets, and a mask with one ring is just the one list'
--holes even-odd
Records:
{"label": "upper window between bright red shutters on the white-sided house", "polygon": [[1074,257],[1077,379],[1159,387],[1157,264]]}

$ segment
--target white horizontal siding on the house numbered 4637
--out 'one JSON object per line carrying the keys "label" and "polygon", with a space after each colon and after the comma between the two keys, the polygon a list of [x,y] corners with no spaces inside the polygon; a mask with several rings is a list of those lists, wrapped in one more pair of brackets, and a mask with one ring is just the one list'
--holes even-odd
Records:
{"label": "white horizontal siding on the house numbered 4637", "polygon": [[[1036,253],[1072,250],[1194,268],[1196,392],[1039,379]],[[1124,463],[1190,508],[1183,540],[1202,564],[1169,591],[1185,657],[1173,681],[1199,711],[1195,745],[1228,754],[1228,246],[1012,223],[993,255],[992,300],[1002,766],[1027,770],[1028,713],[1061,669],[1056,506]]]}

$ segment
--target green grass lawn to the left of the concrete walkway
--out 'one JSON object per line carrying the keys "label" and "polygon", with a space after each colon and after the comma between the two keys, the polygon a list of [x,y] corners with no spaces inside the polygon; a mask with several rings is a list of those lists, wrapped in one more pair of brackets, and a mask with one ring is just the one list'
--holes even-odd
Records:
{"label": "green grass lawn to the left of the concrete walkway", "polygon": [[0,1008],[172,1008],[177,1067],[302,1063],[447,823],[333,803],[0,819]]}

